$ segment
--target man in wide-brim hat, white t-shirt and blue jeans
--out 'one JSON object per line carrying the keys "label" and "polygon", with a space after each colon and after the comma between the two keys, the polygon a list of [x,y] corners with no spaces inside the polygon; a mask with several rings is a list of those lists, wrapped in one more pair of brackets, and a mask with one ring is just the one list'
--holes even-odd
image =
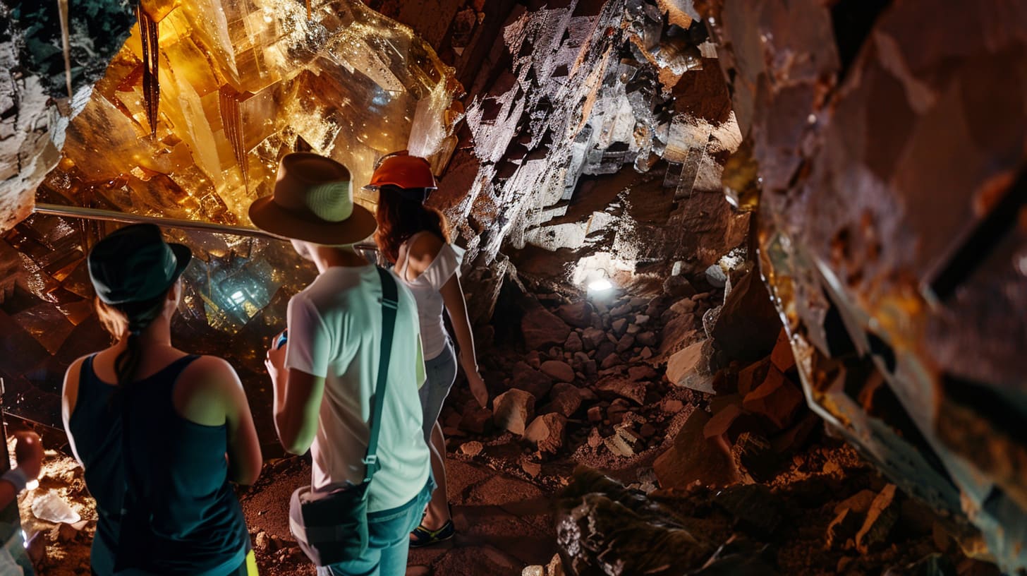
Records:
{"label": "man in wide-brim hat, white t-shirt and blue jeans", "polygon": [[[344,166],[309,152],[281,159],[273,195],[254,202],[250,217],[292,241],[318,272],[290,300],[288,339],[282,335],[286,343],[272,347],[265,362],[278,437],[290,453],[310,448],[313,494],[359,484],[381,353],[383,279],[352,245],[374,233],[375,217],[353,202]],[[364,557],[319,567],[318,574],[404,574],[408,535],[430,497],[417,394],[424,382],[417,308],[397,284],[380,468],[368,488],[370,547]]]}

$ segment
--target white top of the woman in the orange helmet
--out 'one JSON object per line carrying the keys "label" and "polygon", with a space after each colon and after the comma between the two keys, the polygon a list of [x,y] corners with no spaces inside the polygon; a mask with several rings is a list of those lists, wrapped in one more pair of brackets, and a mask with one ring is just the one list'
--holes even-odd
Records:
{"label": "white top of the woman in the orange helmet", "polygon": [[409,247],[417,237],[427,231],[417,232],[407,241],[408,252],[403,265],[400,266],[400,278],[410,288],[417,300],[417,315],[421,324],[421,345],[424,347],[424,357],[428,360],[439,356],[446,350],[446,325],[443,323],[443,295],[440,290],[449,282],[453,275],[460,274],[460,261],[463,259],[463,249],[444,244],[428,267],[424,268],[414,280],[407,280],[407,267],[410,265]]}

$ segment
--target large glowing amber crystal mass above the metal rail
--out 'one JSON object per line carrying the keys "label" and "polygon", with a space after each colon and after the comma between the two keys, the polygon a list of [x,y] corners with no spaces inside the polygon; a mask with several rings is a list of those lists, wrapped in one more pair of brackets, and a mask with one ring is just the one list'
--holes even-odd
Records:
{"label": "large glowing amber crystal mass above the metal rail", "polygon": [[358,190],[385,153],[453,147],[452,70],[360,2],[314,3],[309,19],[295,0],[146,0],[138,13],[72,121],[49,202],[245,225],[289,151],[338,159]]}

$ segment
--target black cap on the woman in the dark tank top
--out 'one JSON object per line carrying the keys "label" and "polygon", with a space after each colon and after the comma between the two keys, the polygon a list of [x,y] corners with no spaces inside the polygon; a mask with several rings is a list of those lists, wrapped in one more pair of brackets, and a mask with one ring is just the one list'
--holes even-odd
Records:
{"label": "black cap on the woman in the dark tank top", "polygon": [[175,284],[192,259],[181,244],[164,242],[155,224],[115,230],[89,251],[89,280],[109,304],[152,300]]}

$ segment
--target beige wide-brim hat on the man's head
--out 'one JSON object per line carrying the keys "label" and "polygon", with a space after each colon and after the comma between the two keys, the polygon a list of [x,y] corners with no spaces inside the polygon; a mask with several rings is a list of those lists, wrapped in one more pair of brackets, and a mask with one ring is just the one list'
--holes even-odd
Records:
{"label": "beige wide-brim hat on the man's head", "polygon": [[378,226],[370,210],[353,202],[349,171],[312,152],[286,154],[274,193],[250,206],[258,228],[325,246],[355,244]]}

